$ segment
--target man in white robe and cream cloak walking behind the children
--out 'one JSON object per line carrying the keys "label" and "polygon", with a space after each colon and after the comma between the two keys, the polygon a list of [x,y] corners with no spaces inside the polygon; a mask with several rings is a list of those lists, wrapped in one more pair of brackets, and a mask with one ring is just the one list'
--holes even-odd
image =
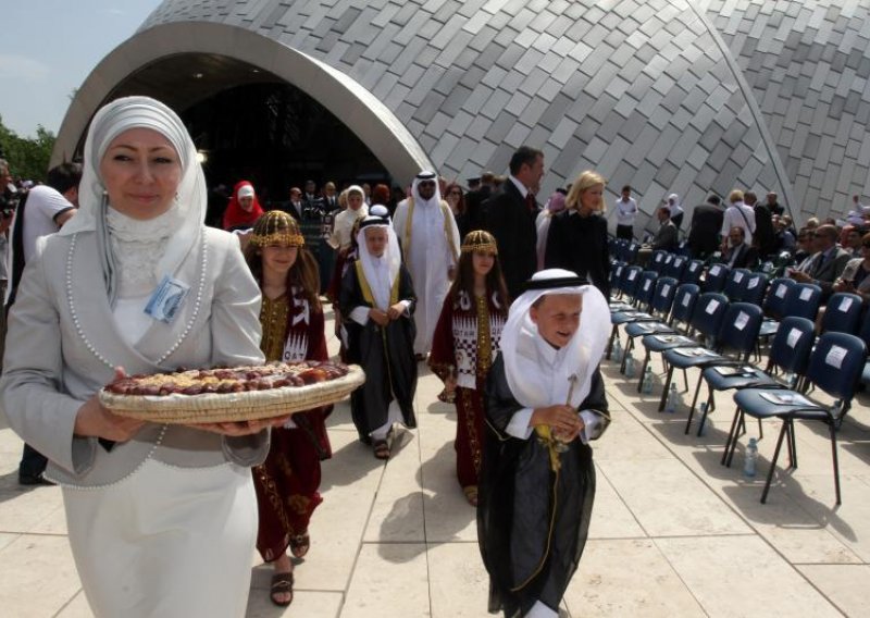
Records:
{"label": "man in white robe and cream cloak walking behind the children", "polygon": [[456,275],[460,247],[459,228],[450,207],[442,199],[433,172],[423,171],[414,177],[411,197],[396,207],[393,228],[401,243],[418,298],[414,354],[422,360],[432,347],[435,324]]}

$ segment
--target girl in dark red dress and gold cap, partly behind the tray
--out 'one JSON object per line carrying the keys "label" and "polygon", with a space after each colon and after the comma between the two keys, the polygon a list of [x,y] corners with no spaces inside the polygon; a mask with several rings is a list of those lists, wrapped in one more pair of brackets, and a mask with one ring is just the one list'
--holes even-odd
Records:
{"label": "girl in dark red dress and gold cap, partly behind the tray", "polygon": [[[327,360],[318,263],[293,217],[266,212],[254,224],[245,255],[263,293],[260,347],[266,361]],[[253,468],[260,512],[257,549],[275,569],[270,590],[275,605],[293,602],[287,547],[296,558],[308,553],[308,523],[323,502],[318,489],[320,462],[332,455],[324,424],[330,408],[297,412],[284,428],[273,429],[269,457]]]}

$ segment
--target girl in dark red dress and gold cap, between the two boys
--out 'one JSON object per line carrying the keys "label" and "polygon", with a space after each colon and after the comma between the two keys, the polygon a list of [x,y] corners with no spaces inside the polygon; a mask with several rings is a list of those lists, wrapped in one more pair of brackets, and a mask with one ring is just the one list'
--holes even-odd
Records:
{"label": "girl in dark red dress and gold cap, between the two boys", "polygon": [[447,400],[456,403],[457,475],[473,506],[477,505],[483,456],[484,384],[507,318],[508,293],[496,239],[482,230],[469,232],[462,242],[459,275],[435,326],[428,363],[444,381]]}

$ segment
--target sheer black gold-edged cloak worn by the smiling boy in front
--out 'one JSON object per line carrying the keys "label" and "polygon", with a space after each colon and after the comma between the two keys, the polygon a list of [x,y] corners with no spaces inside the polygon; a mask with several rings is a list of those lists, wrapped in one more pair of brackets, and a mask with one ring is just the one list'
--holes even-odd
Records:
{"label": "sheer black gold-edged cloak worn by the smiling boy in front", "polygon": [[[486,383],[486,440],[477,494],[477,540],[489,573],[489,611],[524,616],[536,601],[558,611],[577,568],[595,497],[592,448],[580,438],[551,470],[549,449],[535,433],[519,440],[505,433],[523,408],[510,392],[501,356]],[[592,375],[581,410],[609,423],[599,370]]]}

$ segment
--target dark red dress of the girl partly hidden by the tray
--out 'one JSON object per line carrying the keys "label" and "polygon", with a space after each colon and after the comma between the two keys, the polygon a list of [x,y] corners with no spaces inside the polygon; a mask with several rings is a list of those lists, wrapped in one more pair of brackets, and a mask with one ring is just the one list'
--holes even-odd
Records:
{"label": "dark red dress of the girl partly hidden by the tray", "polygon": [[[323,311],[314,310],[293,288],[286,296],[263,297],[260,310],[266,360],[326,360]],[[321,459],[332,456],[324,423],[328,407],[296,412],[291,429],[273,428],[269,456],[253,468],[253,485],[260,512],[257,549],[265,561],[279,558],[290,539],[308,531],[311,515],[323,498],[318,491]]]}

